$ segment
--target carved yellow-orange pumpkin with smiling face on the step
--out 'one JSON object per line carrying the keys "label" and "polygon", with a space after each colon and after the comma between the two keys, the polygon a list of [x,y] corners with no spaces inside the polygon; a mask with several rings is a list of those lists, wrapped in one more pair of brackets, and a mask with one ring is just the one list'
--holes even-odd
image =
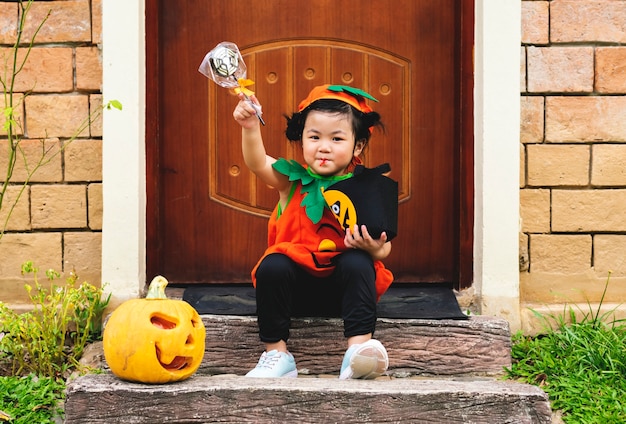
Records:
{"label": "carved yellow-orange pumpkin with smiling face on the step", "polygon": [[167,280],[155,277],[145,299],[122,303],[103,333],[104,357],[113,374],[141,383],[190,377],[202,362],[206,332],[198,312],[167,299]]}

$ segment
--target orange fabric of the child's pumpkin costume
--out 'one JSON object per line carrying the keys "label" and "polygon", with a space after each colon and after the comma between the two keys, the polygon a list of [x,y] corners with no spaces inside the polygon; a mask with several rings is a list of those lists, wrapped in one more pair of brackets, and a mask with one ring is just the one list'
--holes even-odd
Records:
{"label": "orange fabric of the child's pumpkin costume", "polygon": [[[268,248],[252,270],[252,282],[256,287],[256,270],[267,255],[281,253],[288,256],[310,274],[327,277],[335,269],[333,259],[348,250],[343,239],[343,228],[327,207],[321,220],[314,224],[300,206],[306,193],[302,193],[300,181],[294,182],[293,196],[281,211],[276,206],[268,223]],[[374,261],[376,271],[377,300],[393,282],[393,274],[380,260]]]}

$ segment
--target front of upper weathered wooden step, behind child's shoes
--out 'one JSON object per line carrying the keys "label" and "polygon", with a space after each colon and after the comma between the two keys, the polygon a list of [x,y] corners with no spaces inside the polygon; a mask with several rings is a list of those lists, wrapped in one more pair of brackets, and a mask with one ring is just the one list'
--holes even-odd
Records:
{"label": "front of upper weathered wooden step, behind child's shoes", "polygon": [[[243,375],[256,365],[262,351],[256,318],[202,315],[202,320],[207,339],[200,374]],[[501,318],[381,318],[375,336],[387,348],[392,376],[497,376],[511,365],[509,324]],[[340,319],[292,321],[289,350],[301,374],[338,374],[345,348]]]}

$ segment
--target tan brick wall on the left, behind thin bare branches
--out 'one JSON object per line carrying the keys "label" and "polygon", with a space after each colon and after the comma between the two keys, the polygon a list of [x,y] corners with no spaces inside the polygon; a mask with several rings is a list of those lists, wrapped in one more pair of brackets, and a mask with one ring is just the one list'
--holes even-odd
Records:
{"label": "tan brick wall on the left, behind thin bare branches", "polygon": [[[15,81],[16,92],[29,93],[18,109],[24,128],[22,147],[31,166],[41,157],[42,146],[60,152],[34,174],[0,240],[0,300],[4,302],[19,303],[24,298],[20,265],[26,260],[35,261],[42,270],[74,269],[81,281],[100,283],[101,122],[92,123],[70,144],[68,138],[102,103],[101,1],[35,1],[27,15],[23,40],[30,42],[36,26],[50,13]],[[0,1],[0,73],[16,39],[17,20],[18,5]],[[22,49],[20,55],[25,52]],[[2,181],[7,139],[1,130],[0,142]],[[0,222],[25,176],[20,161]]]}

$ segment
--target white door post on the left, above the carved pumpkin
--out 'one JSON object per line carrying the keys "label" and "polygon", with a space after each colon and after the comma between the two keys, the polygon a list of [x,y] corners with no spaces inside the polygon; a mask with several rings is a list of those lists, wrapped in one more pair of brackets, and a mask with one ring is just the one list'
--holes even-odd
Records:
{"label": "white door post on the left, above the carved pumpkin", "polygon": [[144,1],[102,2],[104,113],[102,281],[116,301],[138,297],[145,283]]}

